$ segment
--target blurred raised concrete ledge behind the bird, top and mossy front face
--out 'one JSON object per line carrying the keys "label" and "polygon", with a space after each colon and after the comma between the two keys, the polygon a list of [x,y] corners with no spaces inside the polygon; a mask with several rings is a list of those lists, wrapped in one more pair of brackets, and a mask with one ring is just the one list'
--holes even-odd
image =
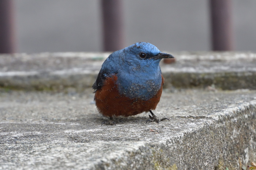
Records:
{"label": "blurred raised concrete ledge behind the bird, top and mossy front face", "polygon": [[[250,52],[170,52],[176,63],[161,64],[165,87],[256,89],[256,54]],[[91,87],[110,53],[0,55],[0,87],[83,91]]]}

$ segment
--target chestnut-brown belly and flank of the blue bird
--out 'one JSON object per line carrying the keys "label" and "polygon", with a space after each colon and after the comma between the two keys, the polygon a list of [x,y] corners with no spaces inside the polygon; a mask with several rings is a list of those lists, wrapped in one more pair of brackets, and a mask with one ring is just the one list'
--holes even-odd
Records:
{"label": "chestnut-brown belly and flank of the blue bird", "polygon": [[[141,99],[129,99],[119,95],[115,84],[117,76],[107,78],[101,89],[95,92],[95,103],[98,111],[108,117],[112,116],[131,116],[157,107],[162,95],[162,86],[151,99],[145,101]],[[162,77],[163,84],[163,77]]]}

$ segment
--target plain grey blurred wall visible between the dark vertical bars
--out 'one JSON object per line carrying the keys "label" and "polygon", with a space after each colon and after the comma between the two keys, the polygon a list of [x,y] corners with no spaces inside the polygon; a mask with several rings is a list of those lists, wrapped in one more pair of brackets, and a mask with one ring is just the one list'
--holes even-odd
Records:
{"label": "plain grey blurred wall visible between the dark vertical bars", "polygon": [[[17,52],[102,51],[99,0],[14,0]],[[123,0],[125,46],[211,50],[208,0]],[[256,51],[256,0],[233,0],[235,50]]]}

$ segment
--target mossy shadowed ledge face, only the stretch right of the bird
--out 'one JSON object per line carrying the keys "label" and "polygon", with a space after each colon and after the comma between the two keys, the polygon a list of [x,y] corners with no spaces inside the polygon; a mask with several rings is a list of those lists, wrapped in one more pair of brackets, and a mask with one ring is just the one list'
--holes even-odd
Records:
{"label": "mossy shadowed ledge face, only the stretch right of the bird", "polygon": [[222,90],[256,89],[255,72],[165,73],[165,88],[206,88],[215,85]]}

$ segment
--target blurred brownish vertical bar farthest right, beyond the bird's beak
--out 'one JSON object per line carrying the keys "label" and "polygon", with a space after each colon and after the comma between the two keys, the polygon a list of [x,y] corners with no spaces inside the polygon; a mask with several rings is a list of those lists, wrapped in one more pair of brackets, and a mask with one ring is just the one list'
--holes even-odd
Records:
{"label": "blurred brownish vertical bar farthest right, beyond the bird's beak", "polygon": [[232,0],[210,0],[212,50],[234,50]]}

